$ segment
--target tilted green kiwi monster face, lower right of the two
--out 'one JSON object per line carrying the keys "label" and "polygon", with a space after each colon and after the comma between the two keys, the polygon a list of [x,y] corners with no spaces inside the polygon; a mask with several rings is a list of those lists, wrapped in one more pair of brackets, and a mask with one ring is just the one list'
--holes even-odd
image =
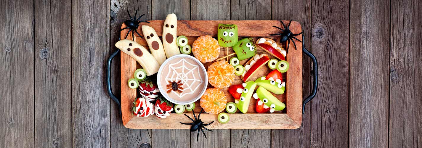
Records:
{"label": "tilted green kiwi monster face, lower right of the two", "polygon": [[254,40],[252,38],[244,38],[238,41],[238,43],[233,46],[239,61],[248,59],[255,55],[257,47],[255,46]]}

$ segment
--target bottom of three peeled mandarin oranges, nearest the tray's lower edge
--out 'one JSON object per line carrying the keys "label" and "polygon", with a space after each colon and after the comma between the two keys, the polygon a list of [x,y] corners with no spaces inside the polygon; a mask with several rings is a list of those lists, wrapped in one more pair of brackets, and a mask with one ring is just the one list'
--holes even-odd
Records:
{"label": "bottom of three peeled mandarin oranges, nearest the tray's lower edge", "polygon": [[227,99],[219,89],[207,89],[199,101],[201,108],[209,114],[217,114],[226,108]]}

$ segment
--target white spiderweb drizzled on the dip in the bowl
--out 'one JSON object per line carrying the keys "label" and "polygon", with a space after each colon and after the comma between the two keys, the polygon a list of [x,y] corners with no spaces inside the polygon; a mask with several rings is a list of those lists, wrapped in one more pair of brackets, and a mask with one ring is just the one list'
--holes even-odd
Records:
{"label": "white spiderweb drizzled on the dip in the bowl", "polygon": [[[198,87],[203,83],[199,71],[200,69],[198,65],[193,65],[192,63],[186,61],[186,59],[181,59],[179,62],[168,65],[168,73],[165,80],[170,82],[177,82],[180,80],[181,83],[183,83],[182,87],[184,88],[181,93],[177,91],[171,91],[170,93],[174,93],[180,98],[187,94],[195,93]],[[199,75],[199,78],[196,78],[197,76],[195,76],[195,73]],[[195,82],[198,82],[198,84],[195,85]]]}

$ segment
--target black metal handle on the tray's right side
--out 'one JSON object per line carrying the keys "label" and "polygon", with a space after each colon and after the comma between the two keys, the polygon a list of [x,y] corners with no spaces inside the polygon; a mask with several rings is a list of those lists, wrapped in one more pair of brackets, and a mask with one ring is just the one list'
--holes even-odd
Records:
{"label": "black metal handle on the tray's right side", "polygon": [[306,50],[305,48],[305,36],[302,35],[302,49],[303,49],[303,53],[305,53],[308,57],[310,57],[312,59],[312,65],[314,70],[311,71],[311,74],[314,75],[314,83],[313,83],[313,87],[312,87],[312,92],[311,94],[309,94],[308,97],[305,98],[305,100],[303,100],[303,106],[302,106],[302,114],[305,113],[305,105],[306,103],[308,103],[309,101],[311,101],[315,95],[317,95],[317,89],[318,89],[318,62],[317,62],[317,58],[314,56],[314,54],[312,54],[311,52],[309,52],[308,50]]}

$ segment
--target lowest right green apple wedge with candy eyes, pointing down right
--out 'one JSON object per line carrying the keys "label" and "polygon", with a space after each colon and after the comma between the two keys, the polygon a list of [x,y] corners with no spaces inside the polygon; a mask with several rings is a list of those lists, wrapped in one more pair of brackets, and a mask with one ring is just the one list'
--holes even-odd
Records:
{"label": "lowest right green apple wedge with candy eyes, pointing down right", "polygon": [[270,107],[270,112],[273,113],[275,110],[283,110],[286,108],[283,102],[273,96],[270,91],[267,91],[264,87],[259,86],[257,92],[253,95],[254,98],[262,99],[262,102],[266,106]]}

